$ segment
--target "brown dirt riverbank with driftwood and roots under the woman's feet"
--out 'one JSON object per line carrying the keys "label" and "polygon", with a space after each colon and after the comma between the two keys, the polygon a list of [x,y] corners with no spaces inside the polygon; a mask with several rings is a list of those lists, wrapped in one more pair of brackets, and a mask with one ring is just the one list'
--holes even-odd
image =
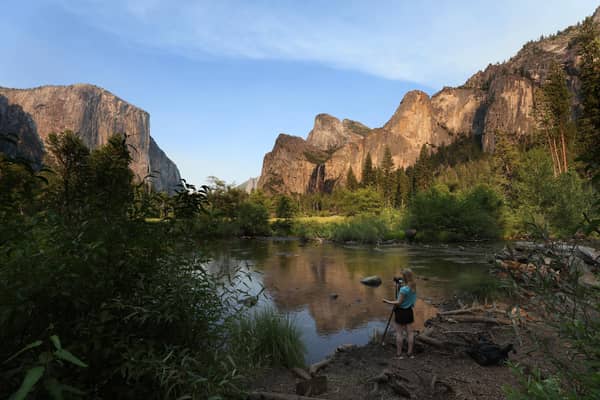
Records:
{"label": "brown dirt riverbank with driftwood and roots under the woman's feet", "polygon": [[[516,242],[497,253],[495,260],[495,274],[510,273],[515,282],[521,282],[521,290],[513,293],[512,300],[505,295],[502,302],[491,305],[465,306],[457,299],[446,300],[418,332],[416,358],[396,359],[393,335],[388,334],[385,346],[375,335],[364,346],[338,347],[310,366],[312,377],[308,380],[285,370],[266,372],[251,385],[253,392],[263,394],[250,398],[292,399],[286,396],[298,393],[305,386],[301,382],[315,379],[320,386],[315,386],[311,398],[320,399],[501,399],[520,385],[525,385],[529,394],[541,393],[539,398],[561,393],[556,386],[557,377],[565,373],[561,368],[568,368],[579,382],[581,373],[589,373],[586,360],[592,353],[582,352],[577,343],[564,337],[567,317],[579,315],[569,311],[573,309],[569,304],[575,304],[572,299],[559,298],[559,308],[551,309],[547,301],[564,290],[564,285],[575,285],[577,293],[587,293],[579,298],[579,304],[587,312],[583,314],[587,323],[595,326],[598,312],[592,307],[597,304],[593,303],[596,297],[589,297],[589,291],[599,286],[600,253],[582,245]],[[544,283],[537,289],[536,277]],[[540,288],[542,292],[536,292]],[[541,296],[548,297],[546,303]],[[560,313],[561,304],[570,314]],[[559,318],[553,318],[550,310],[558,310]],[[510,363],[480,365],[490,360],[490,348],[491,354]]]}

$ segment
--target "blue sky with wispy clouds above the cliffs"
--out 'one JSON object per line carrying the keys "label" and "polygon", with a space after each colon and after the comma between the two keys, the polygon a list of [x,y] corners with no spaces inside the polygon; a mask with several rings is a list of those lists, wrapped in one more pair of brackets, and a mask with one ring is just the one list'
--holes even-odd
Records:
{"label": "blue sky with wispy clouds above the cliffs", "polygon": [[93,83],[150,113],[182,176],[258,176],[326,112],[383,125],[597,1],[29,0],[0,13],[0,86]]}

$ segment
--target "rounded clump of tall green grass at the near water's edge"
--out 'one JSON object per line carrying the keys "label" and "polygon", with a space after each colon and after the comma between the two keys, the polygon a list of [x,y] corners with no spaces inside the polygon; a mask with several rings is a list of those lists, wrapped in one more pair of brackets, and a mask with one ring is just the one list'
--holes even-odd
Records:
{"label": "rounded clump of tall green grass at the near water's edge", "polygon": [[306,347],[295,322],[272,308],[244,315],[232,326],[236,363],[251,367],[303,367]]}

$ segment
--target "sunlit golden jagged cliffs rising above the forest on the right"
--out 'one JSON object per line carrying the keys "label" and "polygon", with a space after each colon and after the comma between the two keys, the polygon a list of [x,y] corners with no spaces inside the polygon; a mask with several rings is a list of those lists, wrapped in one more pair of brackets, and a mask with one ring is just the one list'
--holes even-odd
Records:
{"label": "sunlit golden jagged cliffs rising above the forest on the right", "polygon": [[[600,7],[592,18],[600,23]],[[497,135],[519,137],[535,130],[535,91],[554,64],[565,66],[573,106],[577,105],[578,32],[577,26],[569,27],[529,42],[509,61],[488,65],[461,87],[447,87],[431,97],[408,92],[381,128],[319,114],[306,141],[288,135],[277,138],[265,155],[258,187],[286,194],[328,191],[345,184],[350,168],[362,179],[369,153],[379,165],[389,147],[394,165],[408,167],[423,146],[435,151],[462,135],[475,136],[484,151],[493,152]]]}

